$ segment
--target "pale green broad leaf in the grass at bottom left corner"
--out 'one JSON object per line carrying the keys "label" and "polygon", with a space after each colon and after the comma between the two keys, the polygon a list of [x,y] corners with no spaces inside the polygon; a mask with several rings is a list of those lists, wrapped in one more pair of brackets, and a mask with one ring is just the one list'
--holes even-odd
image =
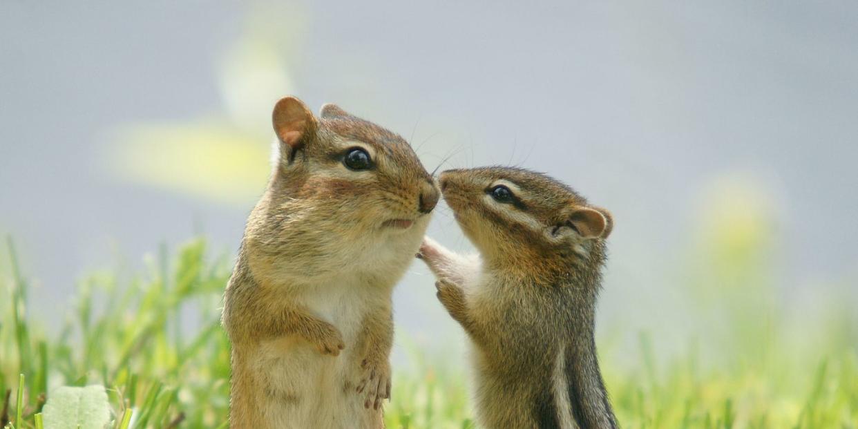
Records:
{"label": "pale green broad leaf in the grass at bottom left corner", "polygon": [[104,386],[63,386],[51,392],[42,411],[45,429],[104,429],[110,404]]}

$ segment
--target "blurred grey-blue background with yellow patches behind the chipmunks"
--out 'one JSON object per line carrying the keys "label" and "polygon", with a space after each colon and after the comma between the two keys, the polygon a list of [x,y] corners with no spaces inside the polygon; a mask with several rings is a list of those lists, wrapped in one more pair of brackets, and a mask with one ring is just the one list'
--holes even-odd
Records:
{"label": "blurred grey-blue background with yellow patches behind the chipmunks", "polygon": [[[233,257],[269,175],[271,109],[296,94],[395,130],[429,170],[526,166],[609,208],[610,360],[637,360],[641,338],[657,360],[764,356],[770,341],[855,350],[856,13],[5,1],[0,233],[49,329],[94,270],[133,272],[198,234]],[[429,233],[471,249],[448,208]],[[396,289],[396,322],[396,353],[462,346],[420,264]]]}

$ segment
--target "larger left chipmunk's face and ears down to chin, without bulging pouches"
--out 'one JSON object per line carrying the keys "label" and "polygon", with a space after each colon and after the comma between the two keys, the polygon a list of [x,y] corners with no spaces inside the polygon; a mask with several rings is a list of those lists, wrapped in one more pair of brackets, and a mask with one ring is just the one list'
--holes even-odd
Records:
{"label": "larger left chipmunk's face and ears down to chin, without bulging pouches", "polygon": [[317,118],[294,97],[277,103],[273,122],[290,195],[336,221],[408,229],[435,208],[432,176],[401,136],[331,104]]}

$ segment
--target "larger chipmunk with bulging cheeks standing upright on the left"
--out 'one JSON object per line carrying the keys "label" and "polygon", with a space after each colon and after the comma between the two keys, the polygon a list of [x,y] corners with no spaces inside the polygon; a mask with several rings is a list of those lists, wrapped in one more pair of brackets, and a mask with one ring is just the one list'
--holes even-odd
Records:
{"label": "larger chipmunk with bulging cheeks standing upright on the left", "polygon": [[279,158],[224,296],[230,427],[378,428],[391,295],[439,192],[401,136],[325,105],[277,102]]}

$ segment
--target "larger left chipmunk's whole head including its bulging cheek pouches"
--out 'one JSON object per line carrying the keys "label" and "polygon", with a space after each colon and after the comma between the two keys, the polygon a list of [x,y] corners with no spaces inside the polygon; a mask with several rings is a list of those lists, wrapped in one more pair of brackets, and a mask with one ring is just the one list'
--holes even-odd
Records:
{"label": "larger left chipmunk's whole head including its bulging cheek pouches", "polygon": [[404,271],[439,197],[408,142],[334,105],[313,115],[294,97],[277,102],[273,124],[279,154],[264,225],[251,228],[258,253],[305,277]]}

